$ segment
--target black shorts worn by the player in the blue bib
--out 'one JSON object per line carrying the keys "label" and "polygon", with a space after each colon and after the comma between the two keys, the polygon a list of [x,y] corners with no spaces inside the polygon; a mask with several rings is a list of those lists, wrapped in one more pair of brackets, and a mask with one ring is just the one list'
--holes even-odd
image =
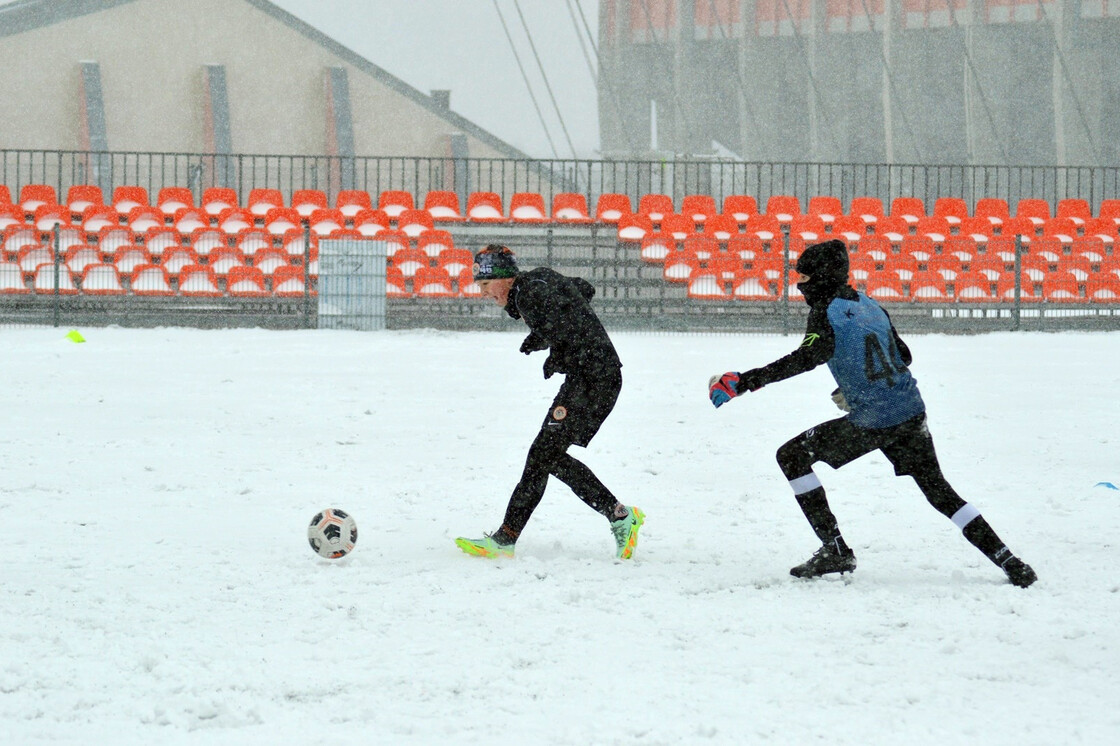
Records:
{"label": "black shorts worn by the player in the blue bib", "polygon": [[841,417],[810,428],[794,440],[813,455],[813,460],[824,461],[834,469],[872,450],[881,450],[898,476],[941,468],[925,412],[893,427],[877,429],[861,428]]}

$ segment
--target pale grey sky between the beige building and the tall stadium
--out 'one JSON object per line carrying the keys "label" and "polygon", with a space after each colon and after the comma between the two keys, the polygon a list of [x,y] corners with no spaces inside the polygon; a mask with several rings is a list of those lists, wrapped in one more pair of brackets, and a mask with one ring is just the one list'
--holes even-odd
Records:
{"label": "pale grey sky between the beige building and the tall stadium", "polygon": [[[272,0],[339,44],[428,92],[450,88],[451,109],[536,158],[595,157],[598,101],[572,12],[576,0]],[[521,17],[567,127],[560,125]],[[598,35],[599,0],[579,0]],[[543,115],[533,106],[502,18]],[[586,46],[586,37],[584,37]],[[587,48],[595,65],[595,52]],[[551,138],[551,144],[550,144]],[[569,139],[571,147],[569,146]]]}

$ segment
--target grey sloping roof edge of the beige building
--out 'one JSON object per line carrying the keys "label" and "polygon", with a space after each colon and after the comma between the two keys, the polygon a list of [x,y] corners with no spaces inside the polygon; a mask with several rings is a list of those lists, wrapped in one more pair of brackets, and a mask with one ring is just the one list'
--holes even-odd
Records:
{"label": "grey sloping roof edge of the beige building", "polygon": [[[0,38],[15,36],[37,28],[52,26],[65,20],[90,16],[118,6],[125,6],[137,0],[19,0],[7,6],[0,6]],[[353,49],[338,44],[314,26],[300,20],[268,0],[241,0],[268,13],[276,20],[311,41],[326,48],[342,60],[376,78],[402,96],[423,106],[440,119],[455,125],[466,134],[486,143],[506,158],[528,159],[529,156],[517,150],[508,142],[478,127],[474,122],[454,111],[441,106],[432,96],[412,87],[389,71],[373,64]]]}

